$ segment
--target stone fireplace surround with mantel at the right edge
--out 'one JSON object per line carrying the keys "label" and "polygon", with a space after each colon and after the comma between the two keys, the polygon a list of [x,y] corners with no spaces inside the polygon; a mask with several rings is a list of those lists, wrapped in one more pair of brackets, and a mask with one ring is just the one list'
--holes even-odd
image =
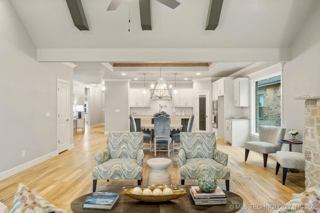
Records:
{"label": "stone fireplace surround with mantel at the right edge", "polygon": [[295,96],[304,102],[305,188],[320,186],[320,93]]}

